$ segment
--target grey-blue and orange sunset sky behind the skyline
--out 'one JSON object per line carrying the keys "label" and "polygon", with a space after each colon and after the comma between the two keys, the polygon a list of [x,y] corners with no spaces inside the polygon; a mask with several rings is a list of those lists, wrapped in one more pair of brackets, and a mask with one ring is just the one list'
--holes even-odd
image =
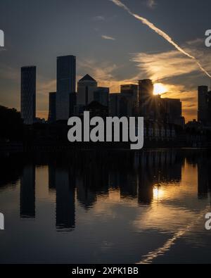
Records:
{"label": "grey-blue and orange sunset sky behind the skyline", "polygon": [[[132,13],[166,32],[211,73],[207,0],[122,0]],[[162,97],[183,101],[186,120],[197,115],[197,87],[210,78],[195,61],[110,0],[0,0],[0,104],[20,109],[20,67],[37,65],[37,116],[47,117],[56,91],[56,57],[77,56],[77,80],[89,73],[100,86],[151,78]],[[158,89],[159,89],[158,88]]]}

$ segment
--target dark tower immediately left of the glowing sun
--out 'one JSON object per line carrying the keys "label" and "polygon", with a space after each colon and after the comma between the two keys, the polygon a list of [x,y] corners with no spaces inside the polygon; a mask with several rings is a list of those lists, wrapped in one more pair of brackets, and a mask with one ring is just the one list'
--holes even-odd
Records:
{"label": "dark tower immediately left of the glowing sun", "polygon": [[139,113],[146,118],[154,117],[153,89],[152,80],[139,80]]}

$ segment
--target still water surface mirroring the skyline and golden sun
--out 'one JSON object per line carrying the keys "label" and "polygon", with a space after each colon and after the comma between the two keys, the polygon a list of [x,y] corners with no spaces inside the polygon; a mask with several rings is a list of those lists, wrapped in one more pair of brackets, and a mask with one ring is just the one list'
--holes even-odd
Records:
{"label": "still water surface mirroring the skyline and golden sun", "polygon": [[0,263],[211,263],[210,155],[1,156]]}

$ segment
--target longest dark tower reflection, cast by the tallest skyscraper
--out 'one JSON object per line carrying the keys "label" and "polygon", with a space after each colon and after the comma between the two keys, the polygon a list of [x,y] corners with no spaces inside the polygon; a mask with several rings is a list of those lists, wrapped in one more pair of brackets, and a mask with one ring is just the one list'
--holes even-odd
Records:
{"label": "longest dark tower reflection, cast by the tallest skyscraper", "polygon": [[75,228],[75,179],[70,172],[56,168],[56,227]]}

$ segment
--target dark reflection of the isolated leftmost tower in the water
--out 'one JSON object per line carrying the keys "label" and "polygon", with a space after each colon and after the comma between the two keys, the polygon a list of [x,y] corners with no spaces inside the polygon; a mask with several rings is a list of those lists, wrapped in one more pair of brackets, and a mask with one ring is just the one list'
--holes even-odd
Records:
{"label": "dark reflection of the isolated leftmost tower in the water", "polygon": [[20,217],[35,217],[35,166],[26,165],[20,179]]}

